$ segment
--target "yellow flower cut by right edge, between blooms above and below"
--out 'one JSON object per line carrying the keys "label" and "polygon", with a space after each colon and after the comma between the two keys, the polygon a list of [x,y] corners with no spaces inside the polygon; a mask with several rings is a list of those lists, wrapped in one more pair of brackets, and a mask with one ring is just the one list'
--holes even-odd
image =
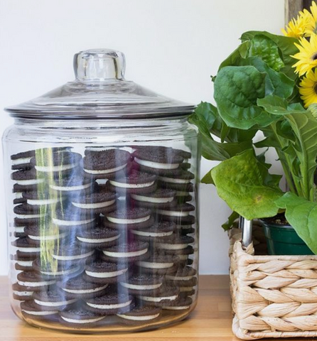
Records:
{"label": "yellow flower cut by right edge, between blooms above and below", "polygon": [[309,41],[301,37],[299,44],[295,43],[295,45],[299,49],[299,53],[291,57],[299,60],[293,67],[296,67],[295,73],[299,73],[301,76],[317,66],[317,36],[312,34]]}

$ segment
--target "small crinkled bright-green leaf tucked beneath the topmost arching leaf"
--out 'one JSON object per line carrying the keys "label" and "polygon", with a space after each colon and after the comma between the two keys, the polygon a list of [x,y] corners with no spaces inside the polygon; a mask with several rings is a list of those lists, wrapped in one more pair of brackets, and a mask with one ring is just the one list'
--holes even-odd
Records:
{"label": "small crinkled bright-green leaf tucked beneath the topmost arching leaf", "polygon": [[[245,41],[247,43],[247,41]],[[267,36],[259,34],[250,40],[249,57],[260,57],[273,70],[279,71],[284,67],[284,62],[279,56],[279,48],[276,43]]]}

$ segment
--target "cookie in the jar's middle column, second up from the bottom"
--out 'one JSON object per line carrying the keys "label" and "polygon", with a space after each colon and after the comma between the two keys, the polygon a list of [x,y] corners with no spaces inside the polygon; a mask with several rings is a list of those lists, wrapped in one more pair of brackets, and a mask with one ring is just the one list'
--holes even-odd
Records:
{"label": "cookie in the jar's middle column, second up from the bottom", "polygon": [[117,283],[127,275],[127,264],[93,261],[85,267],[83,278],[91,283]]}

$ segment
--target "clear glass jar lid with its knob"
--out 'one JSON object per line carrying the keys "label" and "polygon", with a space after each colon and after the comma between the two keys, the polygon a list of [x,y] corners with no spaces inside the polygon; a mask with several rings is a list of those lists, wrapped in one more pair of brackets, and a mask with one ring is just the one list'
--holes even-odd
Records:
{"label": "clear glass jar lid with its knob", "polygon": [[122,52],[85,50],[75,54],[73,64],[73,82],[5,110],[28,119],[151,119],[186,116],[195,109],[125,80]]}

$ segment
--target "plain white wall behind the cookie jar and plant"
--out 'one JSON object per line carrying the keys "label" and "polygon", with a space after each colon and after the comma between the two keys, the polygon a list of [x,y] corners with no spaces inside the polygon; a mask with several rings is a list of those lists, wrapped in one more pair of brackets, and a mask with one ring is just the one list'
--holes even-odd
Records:
{"label": "plain white wall behind the cookie jar and plant", "polygon": [[[210,75],[241,33],[280,33],[283,25],[283,0],[0,1],[0,108],[72,80],[72,55],[88,48],[122,50],[127,79],[156,92],[212,101]],[[11,123],[3,112],[0,133]],[[203,161],[202,175],[214,165]],[[225,274],[228,242],[220,224],[229,210],[212,186],[201,185],[200,197],[200,273]],[[5,225],[0,190],[0,275],[6,274]]]}

